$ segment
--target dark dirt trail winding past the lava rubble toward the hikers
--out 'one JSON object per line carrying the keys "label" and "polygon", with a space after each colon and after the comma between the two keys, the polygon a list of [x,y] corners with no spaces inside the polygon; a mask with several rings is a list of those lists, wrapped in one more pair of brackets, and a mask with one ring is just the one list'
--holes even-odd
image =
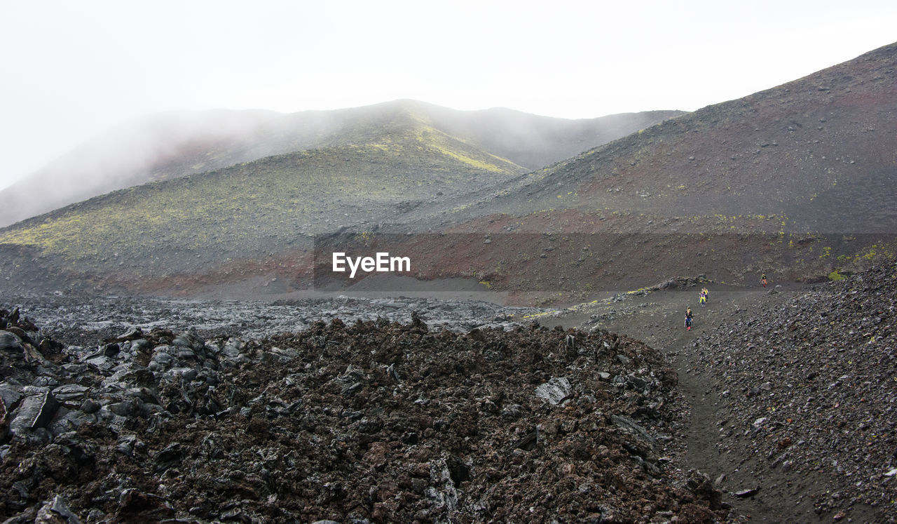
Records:
{"label": "dark dirt trail winding past the lava rubble toward the hikers", "polygon": [[[727,322],[746,314],[745,310],[770,307],[788,300],[803,288],[779,288],[778,293],[773,294],[768,294],[771,287],[724,289],[710,285],[709,288],[710,301],[704,307],[698,305],[698,288],[690,288],[632,296],[623,302],[564,314],[542,323],[564,327],[599,326],[642,340],[666,354],[679,374],[679,387],[690,408],[689,422],[682,435],[687,446],[687,465],[718,480],[718,487],[725,493],[724,502],[732,505],[736,515],[759,522],[815,519],[812,501],[796,504],[793,493],[800,492],[801,486],[792,485],[793,479],[765,467],[762,457],[734,456],[718,449],[718,442],[726,438],[721,435],[719,424],[725,420],[727,399],[718,395],[716,380],[697,369],[699,362],[696,359],[700,357],[692,351],[698,336],[726,329]],[[691,307],[694,314],[691,331],[684,328],[687,307]],[[735,494],[755,487],[760,490],[753,496],[738,497]]]}

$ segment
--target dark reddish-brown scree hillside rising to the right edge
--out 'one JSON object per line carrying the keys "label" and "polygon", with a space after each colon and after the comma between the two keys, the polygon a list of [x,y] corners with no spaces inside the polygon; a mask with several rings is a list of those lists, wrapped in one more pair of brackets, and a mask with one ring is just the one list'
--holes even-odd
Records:
{"label": "dark reddish-brown scree hillside rising to the right edge", "polygon": [[447,215],[445,231],[471,235],[463,247],[393,250],[425,275],[554,301],[675,275],[815,281],[893,258],[895,66],[897,44],[668,119]]}

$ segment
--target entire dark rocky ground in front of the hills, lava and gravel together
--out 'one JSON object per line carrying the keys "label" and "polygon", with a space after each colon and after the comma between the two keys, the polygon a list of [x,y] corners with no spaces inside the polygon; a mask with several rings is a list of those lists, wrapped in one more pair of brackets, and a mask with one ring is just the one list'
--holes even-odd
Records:
{"label": "entire dark rocky ground in front of the hills, lava and gravel together", "polygon": [[3,514],[893,520],[897,266],[840,276],[565,310],[43,299],[47,327],[0,320]]}

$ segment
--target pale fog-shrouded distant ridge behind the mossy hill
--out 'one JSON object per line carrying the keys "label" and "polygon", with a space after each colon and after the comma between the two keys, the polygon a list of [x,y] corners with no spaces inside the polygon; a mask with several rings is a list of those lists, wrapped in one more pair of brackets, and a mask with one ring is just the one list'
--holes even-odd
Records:
{"label": "pale fog-shrouded distant ridge behind the mossy hill", "polygon": [[510,109],[457,111],[414,100],[292,114],[263,110],[161,113],[100,135],[0,191],[0,225],[146,182],[279,154],[366,144],[403,117],[427,122],[440,132],[533,170],[677,114],[649,111],[567,120]]}

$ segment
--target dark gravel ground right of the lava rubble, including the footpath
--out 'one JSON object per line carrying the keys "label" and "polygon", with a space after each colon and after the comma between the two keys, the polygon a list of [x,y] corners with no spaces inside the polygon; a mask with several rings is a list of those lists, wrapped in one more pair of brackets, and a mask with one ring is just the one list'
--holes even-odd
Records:
{"label": "dark gravel ground right of the lava rubble, including the footpath", "polygon": [[[769,288],[679,278],[538,319],[625,333],[664,353],[685,397],[686,461],[737,514],[892,521],[897,266],[839,276],[809,285],[773,276]],[[703,286],[710,301],[699,307]],[[692,331],[682,327],[689,306]]]}

